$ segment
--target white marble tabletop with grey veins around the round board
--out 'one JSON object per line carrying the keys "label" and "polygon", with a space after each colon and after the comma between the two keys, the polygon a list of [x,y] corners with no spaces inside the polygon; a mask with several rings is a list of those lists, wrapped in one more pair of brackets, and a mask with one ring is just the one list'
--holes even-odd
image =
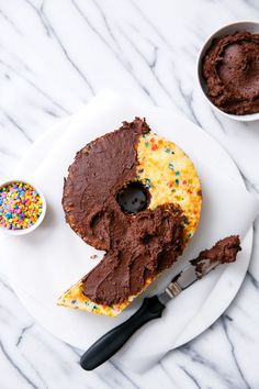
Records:
{"label": "white marble tabletop with grey veins around the round board", "polygon": [[[0,179],[49,125],[108,87],[199,123],[227,148],[258,193],[259,123],[215,114],[195,84],[205,37],[245,19],[259,19],[257,0],[1,1]],[[259,221],[245,282],[210,330],[143,376],[112,363],[86,373],[79,352],[35,323],[1,275],[0,388],[257,389],[258,301]]]}

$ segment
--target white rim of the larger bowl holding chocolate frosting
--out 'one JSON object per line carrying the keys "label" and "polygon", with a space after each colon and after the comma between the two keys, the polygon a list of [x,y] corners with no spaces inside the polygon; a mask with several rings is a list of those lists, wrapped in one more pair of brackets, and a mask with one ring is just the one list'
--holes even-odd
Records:
{"label": "white rim of the larger bowl holding chocolate frosting", "polygon": [[[248,113],[248,114],[241,114],[241,115],[237,115],[237,114],[234,114],[234,113],[227,113],[227,112],[224,112],[222,111],[218,107],[216,107],[210,99],[210,97],[207,96],[207,93],[205,92],[204,90],[204,87],[203,87],[203,84],[204,84],[204,80],[203,80],[203,77],[202,77],[202,71],[201,71],[201,67],[202,67],[202,59],[203,59],[203,56],[204,56],[204,52],[207,49],[207,47],[210,46],[210,44],[212,43],[212,41],[216,37],[216,36],[219,36],[221,33],[226,33],[225,30],[227,29],[233,29],[235,26],[237,26],[237,30],[238,30],[238,26],[240,27],[241,24],[248,24],[247,29],[249,31],[249,24],[252,26],[258,26],[258,33],[259,33],[259,21],[256,21],[256,20],[240,20],[240,21],[236,21],[236,22],[232,22],[232,23],[227,23],[227,24],[224,24],[222,25],[219,29],[215,30],[212,34],[210,34],[203,42],[200,51],[199,51],[199,54],[198,54],[198,57],[196,57],[196,81],[199,84],[199,87],[200,87],[200,90],[202,91],[202,95],[203,97],[205,98],[205,100],[209,102],[209,104],[216,111],[216,112],[219,112],[222,115],[224,115],[225,118],[228,118],[228,119],[233,119],[233,120],[236,120],[236,121],[240,121],[240,122],[251,122],[251,121],[257,121],[259,120],[259,112],[256,112],[256,113]],[[244,30],[247,30],[247,29],[244,29]]]}

